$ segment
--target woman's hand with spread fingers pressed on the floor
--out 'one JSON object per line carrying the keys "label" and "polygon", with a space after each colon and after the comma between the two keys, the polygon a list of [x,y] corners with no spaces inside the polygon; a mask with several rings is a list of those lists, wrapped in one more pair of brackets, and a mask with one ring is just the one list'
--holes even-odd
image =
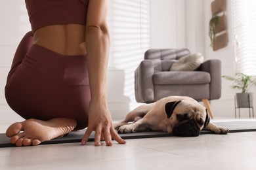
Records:
{"label": "woman's hand with spread fingers pressed on the floor", "polygon": [[[105,102],[106,103],[106,102]],[[112,139],[119,144],[126,142],[118,135],[112,125],[112,116],[108,110],[108,105],[100,101],[91,101],[89,106],[89,124],[81,144],[86,144],[91,133],[95,131],[95,146],[100,146],[100,140],[104,139],[107,146],[112,146]]]}

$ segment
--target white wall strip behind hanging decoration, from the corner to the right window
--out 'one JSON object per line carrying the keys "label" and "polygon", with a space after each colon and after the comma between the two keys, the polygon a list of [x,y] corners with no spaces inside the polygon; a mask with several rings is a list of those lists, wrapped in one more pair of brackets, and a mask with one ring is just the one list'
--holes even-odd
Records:
{"label": "white wall strip behind hanging decoration, from the corner to the right window", "polygon": [[[222,64],[222,75],[234,75],[236,72],[236,63],[234,60],[234,39],[233,39],[233,13],[232,2],[226,1],[226,19],[228,22],[228,46],[213,52],[208,37],[208,23],[211,18],[211,0],[203,0],[204,29],[205,29],[205,57],[207,59],[220,59]],[[237,91],[232,90],[230,86],[232,82],[222,79],[222,95],[221,99],[211,101],[211,107],[216,116],[225,116],[234,118],[234,95]],[[255,88],[251,88],[251,92],[255,92]],[[255,95],[255,93],[254,93]],[[255,96],[254,96],[255,98]],[[254,106],[256,101],[254,100]],[[249,117],[248,109],[241,109],[242,117]]]}

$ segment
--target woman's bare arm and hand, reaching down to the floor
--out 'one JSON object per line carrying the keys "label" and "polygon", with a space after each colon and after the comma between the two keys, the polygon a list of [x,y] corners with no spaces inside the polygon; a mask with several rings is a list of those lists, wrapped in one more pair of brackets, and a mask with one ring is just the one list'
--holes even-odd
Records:
{"label": "woman's bare arm and hand, reaching down to the floor", "polygon": [[91,102],[89,124],[81,143],[87,143],[89,135],[95,131],[95,146],[100,146],[100,139],[105,139],[108,146],[112,145],[112,138],[120,144],[125,143],[112,125],[112,116],[108,109],[106,96],[106,73],[110,50],[107,9],[107,0],[89,1],[85,34]]}

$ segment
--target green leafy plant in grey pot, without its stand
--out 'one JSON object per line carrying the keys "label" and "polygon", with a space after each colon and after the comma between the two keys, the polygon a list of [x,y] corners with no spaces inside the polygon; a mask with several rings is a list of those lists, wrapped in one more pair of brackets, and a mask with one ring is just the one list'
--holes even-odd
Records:
{"label": "green leafy plant in grey pot, without its stand", "polygon": [[236,93],[237,107],[253,106],[253,93],[248,92],[249,88],[256,86],[256,79],[253,76],[238,72],[235,76],[223,76],[223,78],[234,82],[234,85],[231,86],[232,89],[242,91],[241,93]]}

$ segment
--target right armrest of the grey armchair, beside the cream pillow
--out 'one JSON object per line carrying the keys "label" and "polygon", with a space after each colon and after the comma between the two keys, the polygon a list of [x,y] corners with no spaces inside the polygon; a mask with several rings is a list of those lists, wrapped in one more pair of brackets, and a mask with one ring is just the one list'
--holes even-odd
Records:
{"label": "right armrest of the grey armchair, beside the cream pillow", "polygon": [[200,65],[199,71],[205,71],[211,75],[210,100],[221,97],[221,61],[209,59]]}

